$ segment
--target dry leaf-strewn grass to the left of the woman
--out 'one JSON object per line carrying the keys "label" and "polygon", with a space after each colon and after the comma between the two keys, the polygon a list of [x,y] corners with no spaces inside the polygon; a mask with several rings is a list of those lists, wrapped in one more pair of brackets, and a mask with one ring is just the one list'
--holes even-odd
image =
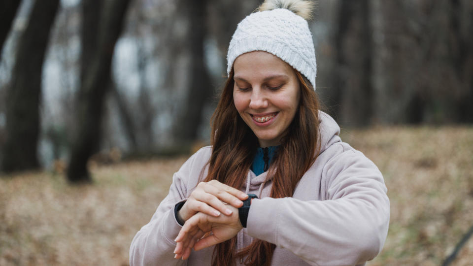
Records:
{"label": "dry leaf-strewn grass to the left of the woman", "polygon": [[100,166],[94,185],[63,175],[0,180],[0,265],[128,265],[135,233],[185,158]]}

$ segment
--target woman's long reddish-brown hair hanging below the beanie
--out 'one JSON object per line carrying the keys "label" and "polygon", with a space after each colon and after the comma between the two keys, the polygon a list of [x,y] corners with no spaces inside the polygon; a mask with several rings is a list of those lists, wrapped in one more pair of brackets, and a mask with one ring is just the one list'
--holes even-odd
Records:
{"label": "woman's long reddish-brown hair hanging below the beanie", "polygon": [[[267,180],[272,179],[271,198],[291,197],[297,183],[313,164],[320,149],[318,132],[318,99],[308,80],[294,70],[299,79],[301,98],[299,109],[281,139]],[[258,138],[241,119],[234,100],[234,72],[230,72],[211,119],[212,155],[205,182],[216,179],[241,189],[253,162]],[[219,243],[213,252],[212,266],[234,265],[236,258],[247,256],[245,265],[269,266],[276,245],[255,239],[236,251],[236,236]],[[231,252],[229,252],[231,251]]]}

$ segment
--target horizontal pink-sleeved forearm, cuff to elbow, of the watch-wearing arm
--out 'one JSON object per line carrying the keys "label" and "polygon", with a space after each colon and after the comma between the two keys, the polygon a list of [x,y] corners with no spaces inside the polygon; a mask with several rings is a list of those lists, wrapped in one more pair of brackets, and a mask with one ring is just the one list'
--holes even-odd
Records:
{"label": "horizontal pink-sleeved forearm, cuff to elbow, of the watch-wearing arm", "polygon": [[248,234],[286,248],[311,265],[356,265],[381,250],[389,202],[293,198],[253,200]]}

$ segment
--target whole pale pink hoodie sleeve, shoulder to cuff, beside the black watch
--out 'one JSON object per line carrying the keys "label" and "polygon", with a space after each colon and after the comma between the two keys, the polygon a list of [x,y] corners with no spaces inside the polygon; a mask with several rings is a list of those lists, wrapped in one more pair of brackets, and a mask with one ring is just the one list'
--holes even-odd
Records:
{"label": "whole pale pink hoodie sleeve, shoulder to cuff, beside the black watch", "polygon": [[344,145],[338,149],[342,152],[322,171],[326,200],[255,199],[248,234],[288,249],[310,265],[372,260],[388,231],[387,189],[381,172],[361,152]]}

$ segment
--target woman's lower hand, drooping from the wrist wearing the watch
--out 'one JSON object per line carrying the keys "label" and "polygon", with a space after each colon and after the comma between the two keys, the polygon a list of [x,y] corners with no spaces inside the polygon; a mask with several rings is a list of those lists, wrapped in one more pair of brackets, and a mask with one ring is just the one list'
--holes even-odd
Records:
{"label": "woman's lower hand, drooping from the wrist wearing the watch", "polygon": [[[174,258],[187,260],[192,248],[196,251],[201,250],[234,237],[243,226],[240,223],[238,209],[232,205],[227,207],[233,210],[230,216],[214,217],[198,212],[189,218],[175,239],[177,245]],[[205,233],[211,234],[203,237]]]}

